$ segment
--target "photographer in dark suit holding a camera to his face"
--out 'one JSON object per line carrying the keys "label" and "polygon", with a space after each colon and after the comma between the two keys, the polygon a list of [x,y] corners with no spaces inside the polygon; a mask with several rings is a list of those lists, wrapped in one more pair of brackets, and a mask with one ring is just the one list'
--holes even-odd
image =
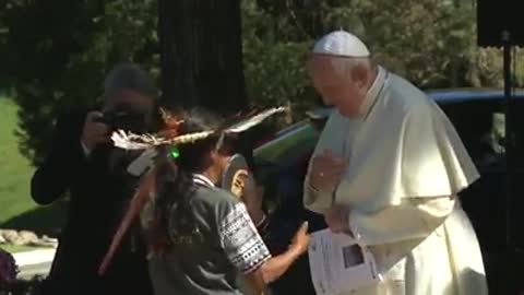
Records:
{"label": "photographer in dark suit holding a camera to his face", "polygon": [[[111,131],[155,128],[157,91],[150,76],[131,63],[106,78],[104,105],[57,120],[52,149],[32,179],[32,197],[49,204],[69,192],[69,210],[43,293],[152,294],[139,227],[130,231],[105,276],[97,267],[141,173],[154,154],[140,156],[115,149]],[[139,164],[139,165],[136,165]]]}

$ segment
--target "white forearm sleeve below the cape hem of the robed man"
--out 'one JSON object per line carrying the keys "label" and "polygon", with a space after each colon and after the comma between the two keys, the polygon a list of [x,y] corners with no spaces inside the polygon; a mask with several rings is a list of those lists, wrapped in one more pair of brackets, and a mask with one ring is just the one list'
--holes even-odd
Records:
{"label": "white forearm sleeve below the cape hem of the robed man", "polygon": [[349,213],[349,227],[362,245],[383,245],[424,238],[453,211],[454,197],[409,198],[376,213]]}

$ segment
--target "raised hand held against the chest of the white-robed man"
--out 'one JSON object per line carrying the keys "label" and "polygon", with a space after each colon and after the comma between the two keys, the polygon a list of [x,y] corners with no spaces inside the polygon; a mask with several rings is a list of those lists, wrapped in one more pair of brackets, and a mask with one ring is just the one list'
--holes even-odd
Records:
{"label": "raised hand held against the chest of the white-robed man", "polygon": [[332,191],[346,170],[346,161],[333,155],[329,150],[313,157],[309,174],[309,184],[321,191]]}

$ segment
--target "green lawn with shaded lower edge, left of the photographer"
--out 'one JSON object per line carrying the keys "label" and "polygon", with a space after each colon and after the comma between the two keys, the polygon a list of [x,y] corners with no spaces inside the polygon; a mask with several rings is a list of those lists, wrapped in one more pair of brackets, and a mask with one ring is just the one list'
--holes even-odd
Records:
{"label": "green lawn with shaded lower edge, left of the photographer", "polygon": [[19,152],[17,106],[0,97],[0,228],[53,234],[63,220],[59,205],[39,206],[29,196],[34,167]]}

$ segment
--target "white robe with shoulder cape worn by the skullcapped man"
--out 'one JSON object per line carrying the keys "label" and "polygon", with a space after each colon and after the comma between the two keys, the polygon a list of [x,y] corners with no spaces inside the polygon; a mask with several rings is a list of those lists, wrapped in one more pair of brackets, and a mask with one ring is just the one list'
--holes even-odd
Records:
{"label": "white robe with shoulder cape worn by the skullcapped man", "polygon": [[347,160],[333,192],[305,184],[305,204],[350,209],[349,226],[376,256],[383,281],[353,294],[488,294],[475,232],[457,193],[478,177],[442,110],[379,68],[359,118],[334,111],[314,154]]}

